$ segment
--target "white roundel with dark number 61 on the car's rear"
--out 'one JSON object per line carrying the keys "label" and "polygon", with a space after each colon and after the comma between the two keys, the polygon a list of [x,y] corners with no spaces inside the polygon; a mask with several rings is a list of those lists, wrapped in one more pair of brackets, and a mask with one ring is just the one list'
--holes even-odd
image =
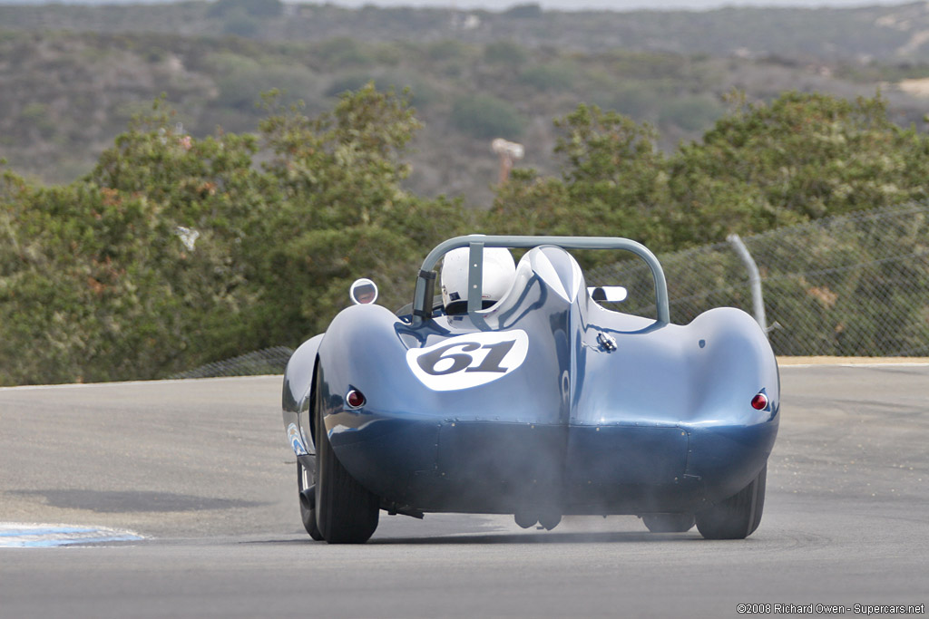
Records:
{"label": "white roundel with dark number 61 on the car's rear", "polygon": [[434,391],[487,384],[522,365],[529,353],[526,331],[479,331],[407,351],[413,375]]}

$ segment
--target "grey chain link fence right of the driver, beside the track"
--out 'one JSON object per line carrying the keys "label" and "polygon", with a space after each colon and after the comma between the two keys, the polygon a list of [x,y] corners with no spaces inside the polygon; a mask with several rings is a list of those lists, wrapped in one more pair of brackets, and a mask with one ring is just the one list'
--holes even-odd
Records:
{"label": "grey chain link fence right of the driver, beside the track", "polygon": [[[758,265],[778,355],[929,355],[929,205],[821,219],[742,239]],[[660,255],[672,321],[718,306],[752,313],[749,273],[729,243]],[[587,273],[619,284],[617,309],[654,316],[654,284],[635,260]]]}

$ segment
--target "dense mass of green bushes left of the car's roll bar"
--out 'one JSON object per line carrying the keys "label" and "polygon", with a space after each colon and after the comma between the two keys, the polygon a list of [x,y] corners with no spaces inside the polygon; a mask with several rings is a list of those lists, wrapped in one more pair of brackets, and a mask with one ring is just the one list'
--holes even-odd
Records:
{"label": "dense mass of green bushes left of the car's roll bar", "polygon": [[82,181],[0,179],[0,383],[159,378],[294,346],[353,277],[392,284],[459,231],[436,222],[468,221],[400,188],[418,127],[401,97],[366,86],[316,118],[267,110],[260,166],[254,135],[178,135],[159,100]]}

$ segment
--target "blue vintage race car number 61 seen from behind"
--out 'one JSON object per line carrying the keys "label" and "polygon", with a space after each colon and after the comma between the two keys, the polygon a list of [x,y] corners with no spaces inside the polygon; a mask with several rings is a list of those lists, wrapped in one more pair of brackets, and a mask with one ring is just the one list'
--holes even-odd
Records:
{"label": "blue vintage race car number 61 seen from behind", "polygon": [[[528,250],[517,265],[502,248]],[[651,269],[655,319],[605,307],[568,250],[631,251]],[[505,254],[505,255],[504,255]],[[444,257],[441,298],[434,298]],[[283,421],[307,533],[362,543],[381,509],[635,514],[653,532],[711,539],[757,528],[779,423],[764,331],[716,308],[670,322],[661,264],[629,239],[449,239],[425,258],[413,302],[347,307],[287,365]]]}

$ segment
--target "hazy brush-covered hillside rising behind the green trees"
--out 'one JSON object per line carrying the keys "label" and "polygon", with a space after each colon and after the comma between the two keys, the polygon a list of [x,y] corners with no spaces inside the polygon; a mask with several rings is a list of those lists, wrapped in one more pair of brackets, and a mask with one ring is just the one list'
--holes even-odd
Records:
{"label": "hazy brush-covered hillside rising behind the green trees", "polygon": [[[917,59],[918,45],[910,58],[869,62],[799,58],[786,52],[692,54],[619,44],[608,49],[593,38],[586,40],[587,51],[579,51],[585,39],[578,24],[597,32],[603,25],[598,18],[619,19],[617,14],[533,13],[526,7],[509,14],[459,14],[296,6],[288,9],[294,15],[281,16],[275,13],[280,10],[277,0],[247,5],[220,0],[168,6],[0,6],[0,28],[7,29],[0,30],[0,157],[20,173],[46,182],[69,181],[85,174],[132,114],[148,109],[162,92],[177,107],[177,122],[186,131],[206,135],[217,126],[254,130],[259,117],[255,102],[270,88],[286,89],[290,100],[302,99],[316,113],[331,109],[339,93],[373,79],[382,88],[409,86],[417,116],[425,122],[411,154],[409,186],[422,195],[463,196],[478,205],[489,203],[496,180],[491,139],[523,143],[522,164],[553,171],[552,121],[581,102],[653,123],[662,148],[671,149],[682,139],[700,138],[726,110],[724,96],[734,88],[750,99],[768,100],[785,90],[872,96],[880,86],[896,122],[920,126],[927,104],[923,97],[929,96],[929,64]],[[925,13],[922,4],[825,13],[850,19],[880,10],[887,24],[891,14]],[[726,16],[787,19],[791,14],[731,9],[699,16],[712,21]],[[246,18],[242,23],[258,24],[254,35],[259,38],[213,35],[228,30],[237,15]],[[477,20],[468,21],[468,16]],[[641,32],[637,36],[655,48],[683,48],[683,21],[677,20],[686,17],[696,19],[697,14],[630,13],[623,19],[652,23],[656,33],[651,39],[642,38]],[[661,36],[659,18],[667,21]],[[458,24],[451,30],[450,19]],[[567,43],[556,36],[559,20],[574,24],[562,32]],[[508,32],[512,36],[500,34],[507,33],[502,30],[506,23],[513,26]],[[917,28],[915,21],[909,23],[910,29]],[[43,30],[64,24],[70,24],[70,32]],[[143,27],[172,33],[128,32]],[[900,34],[903,26],[877,28]],[[301,33],[318,40],[270,36],[275,29],[294,39]],[[89,32],[75,32],[80,30]],[[700,28],[691,24],[686,30],[696,40]],[[356,38],[334,36],[340,32]],[[407,37],[403,32],[418,34]],[[546,32],[552,36],[543,45]],[[503,38],[492,40],[498,34]],[[265,36],[275,40],[260,38]],[[521,39],[528,43],[517,43]]]}

